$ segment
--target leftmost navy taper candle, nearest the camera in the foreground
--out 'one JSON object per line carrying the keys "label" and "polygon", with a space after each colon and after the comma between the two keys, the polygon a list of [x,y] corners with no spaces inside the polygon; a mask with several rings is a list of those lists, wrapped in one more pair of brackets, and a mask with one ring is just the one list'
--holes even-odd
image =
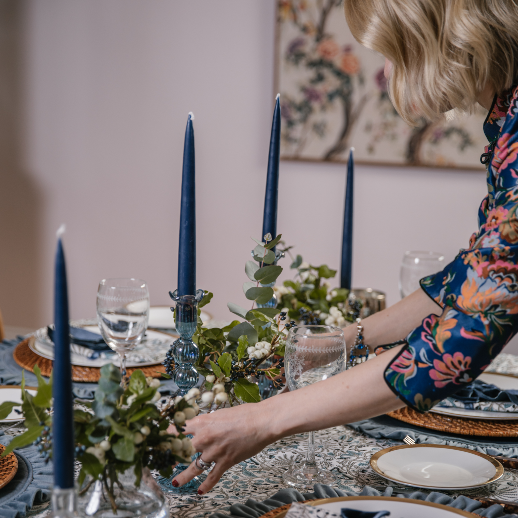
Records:
{"label": "leftmost navy taper candle, nearest the camera in the foreground", "polygon": [[74,418],[65,255],[58,235],[54,278],[54,366],[52,464],[54,487],[74,487]]}

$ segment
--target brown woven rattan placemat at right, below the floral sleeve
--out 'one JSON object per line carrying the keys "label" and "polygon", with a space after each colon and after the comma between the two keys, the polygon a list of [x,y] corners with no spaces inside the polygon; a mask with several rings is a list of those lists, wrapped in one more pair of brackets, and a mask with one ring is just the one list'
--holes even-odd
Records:
{"label": "brown woven rattan placemat at right, below the floral sleeve", "polygon": [[445,431],[449,434],[518,437],[518,420],[489,421],[486,419],[453,418],[433,412],[422,414],[410,407],[400,408],[387,413],[387,415],[405,423],[422,426],[430,430]]}

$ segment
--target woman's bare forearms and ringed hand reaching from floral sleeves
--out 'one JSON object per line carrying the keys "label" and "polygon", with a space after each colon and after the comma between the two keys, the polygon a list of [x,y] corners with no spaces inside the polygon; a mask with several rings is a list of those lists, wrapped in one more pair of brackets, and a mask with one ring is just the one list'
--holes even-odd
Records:
{"label": "woman's bare forearms and ringed hand reaching from floral sleeves", "polygon": [[[430,312],[440,312],[439,306],[418,290],[363,320],[365,342],[377,346],[404,338]],[[356,326],[344,329],[346,342],[354,339],[355,332]],[[216,463],[200,491],[206,493],[228,468],[281,437],[352,423],[405,406],[383,379],[387,363],[400,350],[401,346],[395,347],[304,389],[260,403],[199,415],[188,421],[185,433],[193,434],[194,448],[202,452],[205,462]],[[192,464],[177,476],[176,481],[183,485],[197,474],[199,470]]]}

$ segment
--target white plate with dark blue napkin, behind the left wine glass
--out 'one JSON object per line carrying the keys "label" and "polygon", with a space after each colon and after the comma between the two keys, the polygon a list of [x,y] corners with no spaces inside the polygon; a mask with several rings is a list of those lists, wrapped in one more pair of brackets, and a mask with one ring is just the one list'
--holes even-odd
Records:
{"label": "white plate with dark blue napkin, behind the left wine glass", "polygon": [[[77,322],[74,323],[78,325]],[[92,333],[99,333],[96,325],[81,325],[84,329]],[[126,367],[146,367],[156,365],[164,361],[165,354],[171,347],[175,337],[159,331],[146,331],[145,338],[138,344],[133,351],[127,354]],[[44,358],[54,359],[54,344],[49,338],[47,328],[42,327],[31,337],[28,342],[29,348]],[[70,361],[72,365],[81,367],[102,367],[107,363],[119,365],[119,356],[114,351],[103,351],[98,358],[90,359],[77,352],[74,352],[74,344],[70,345]],[[78,348],[80,350],[80,348]]]}

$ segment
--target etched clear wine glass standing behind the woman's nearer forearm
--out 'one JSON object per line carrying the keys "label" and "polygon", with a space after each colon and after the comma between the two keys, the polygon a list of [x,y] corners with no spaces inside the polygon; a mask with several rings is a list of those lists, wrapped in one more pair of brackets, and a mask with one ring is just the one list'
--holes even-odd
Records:
{"label": "etched clear wine glass standing behind the woman's nearer forearm", "polygon": [[[342,329],[326,325],[292,327],[286,337],[284,370],[290,391],[324,381],[345,370],[346,341]],[[301,466],[292,465],[282,479],[285,484],[310,488],[313,484],[336,481],[333,473],[319,468],[315,462],[315,433],[309,433],[308,454]]]}

